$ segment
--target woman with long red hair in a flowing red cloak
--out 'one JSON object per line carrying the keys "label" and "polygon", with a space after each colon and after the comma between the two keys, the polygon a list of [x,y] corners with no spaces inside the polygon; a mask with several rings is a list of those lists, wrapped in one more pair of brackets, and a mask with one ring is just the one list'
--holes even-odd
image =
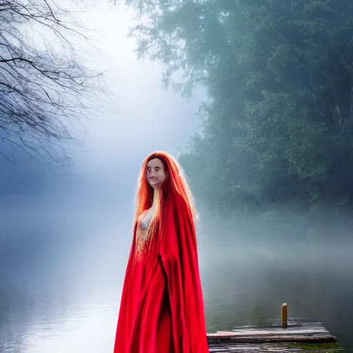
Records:
{"label": "woman with long red hair in a flowing red cloak", "polygon": [[177,161],[143,162],[114,353],[209,352],[194,228]]}

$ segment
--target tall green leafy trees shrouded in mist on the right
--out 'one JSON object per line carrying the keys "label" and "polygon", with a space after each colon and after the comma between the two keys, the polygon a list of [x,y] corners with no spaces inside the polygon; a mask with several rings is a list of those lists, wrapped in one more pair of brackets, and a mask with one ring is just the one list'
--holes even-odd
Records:
{"label": "tall green leafy trees shrouded in mist on the right", "polygon": [[199,199],[352,201],[351,1],[126,3],[140,10],[139,57],[163,63],[165,87],[208,90],[203,134],[181,156]]}

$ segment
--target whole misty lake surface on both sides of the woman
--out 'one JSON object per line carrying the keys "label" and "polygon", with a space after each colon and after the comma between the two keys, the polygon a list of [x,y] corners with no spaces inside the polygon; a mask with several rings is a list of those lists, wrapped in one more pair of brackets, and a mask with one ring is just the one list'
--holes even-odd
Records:
{"label": "whole misty lake surface on both sides of the woman", "polygon": [[[3,203],[1,353],[112,352],[132,220],[132,203],[119,204]],[[286,302],[352,349],[352,241],[232,224],[201,215],[208,331],[279,318]]]}

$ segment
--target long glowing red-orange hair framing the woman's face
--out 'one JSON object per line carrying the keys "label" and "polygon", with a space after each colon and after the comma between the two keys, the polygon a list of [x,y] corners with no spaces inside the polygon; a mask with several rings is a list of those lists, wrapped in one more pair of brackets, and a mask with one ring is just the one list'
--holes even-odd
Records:
{"label": "long glowing red-orange hair framing the woman's face", "polygon": [[160,219],[161,212],[163,211],[163,207],[165,205],[165,201],[168,198],[168,194],[177,193],[185,201],[188,207],[188,211],[192,216],[192,220],[194,221],[194,223],[196,223],[197,214],[194,208],[194,201],[188,183],[185,179],[183,169],[181,168],[177,160],[174,159],[174,157],[172,157],[170,154],[168,154],[167,152],[157,151],[149,154],[142,164],[136,190],[134,224],[136,224],[136,222],[138,221],[141,213],[151,208],[153,203],[154,189],[148,183],[147,180],[147,164],[149,161],[155,158],[159,159],[163,163],[165,170],[165,181],[162,185],[160,192],[160,199],[159,205],[157,207],[156,218]]}

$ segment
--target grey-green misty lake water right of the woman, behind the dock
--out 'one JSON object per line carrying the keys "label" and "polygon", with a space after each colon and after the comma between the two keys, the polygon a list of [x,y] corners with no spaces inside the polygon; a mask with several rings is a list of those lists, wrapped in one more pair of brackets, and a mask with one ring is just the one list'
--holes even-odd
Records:
{"label": "grey-green misty lake water right of the woman, behind the dock", "polygon": [[277,211],[276,226],[249,214],[203,216],[199,248],[209,331],[280,319],[287,303],[290,317],[323,322],[352,349],[351,222],[341,223],[340,234],[325,219],[305,228],[302,214],[293,225],[284,211]]}

